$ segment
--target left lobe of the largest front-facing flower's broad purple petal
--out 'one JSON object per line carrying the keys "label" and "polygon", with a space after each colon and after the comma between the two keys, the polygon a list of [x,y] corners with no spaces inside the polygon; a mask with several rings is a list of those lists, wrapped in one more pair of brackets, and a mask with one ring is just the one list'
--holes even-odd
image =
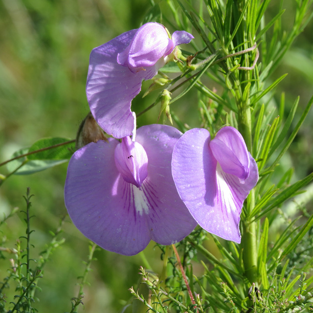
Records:
{"label": "left lobe of the largest front-facing flower's broad purple petal", "polygon": [[148,245],[150,234],[145,216],[134,210],[134,185],[114,165],[118,143],[99,140],[74,153],[67,169],[65,204],[87,238],[106,250],[133,255]]}

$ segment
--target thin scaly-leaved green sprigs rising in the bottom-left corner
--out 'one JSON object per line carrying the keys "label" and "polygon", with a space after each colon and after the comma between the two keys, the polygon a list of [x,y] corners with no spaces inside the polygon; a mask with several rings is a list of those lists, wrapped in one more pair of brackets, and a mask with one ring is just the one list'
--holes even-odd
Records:
{"label": "thin scaly-leaved green sprigs rising in the bottom-left corner", "polygon": [[[30,199],[33,195],[30,194],[30,189],[27,188],[26,196],[26,210],[22,211],[25,215],[24,221],[26,224],[25,236],[21,236],[15,248],[3,248],[0,249],[1,259],[6,260],[7,254],[13,255],[9,261],[11,268],[7,270],[7,276],[0,282],[0,312],[14,313],[34,313],[38,312],[36,309],[36,302],[39,301],[38,296],[41,291],[40,279],[45,278],[44,268],[46,263],[49,261],[51,254],[55,249],[62,246],[65,242],[64,238],[60,238],[62,233],[62,227],[64,225],[64,219],[60,221],[59,226],[55,232],[50,231],[51,239],[50,242],[45,245],[45,249],[34,258],[34,246],[32,245],[31,234],[35,231],[31,228],[30,220],[35,219],[34,215],[31,215],[31,202]],[[17,209],[13,210],[7,217],[1,221],[3,224],[9,218],[12,218],[17,214]],[[5,237],[1,238],[2,244],[5,244]],[[84,295],[83,289],[87,283],[87,275],[90,271],[91,262],[93,258],[93,252],[96,248],[95,244],[90,244],[89,259],[85,262],[85,271],[80,279],[80,289],[78,296],[73,298],[71,313],[76,313],[76,307],[82,304],[82,298]],[[15,288],[14,288],[15,287]],[[11,299],[12,297],[12,299]]]}

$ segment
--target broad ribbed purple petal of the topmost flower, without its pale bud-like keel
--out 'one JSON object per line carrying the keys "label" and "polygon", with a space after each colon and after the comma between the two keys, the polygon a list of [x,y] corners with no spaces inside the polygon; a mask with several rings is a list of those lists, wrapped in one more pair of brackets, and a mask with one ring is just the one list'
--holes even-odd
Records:
{"label": "broad ribbed purple petal of the topmost flower, without its pale bud-like keel", "polygon": [[131,103],[143,80],[156,75],[155,66],[133,73],[119,65],[117,54],[131,42],[136,29],[94,48],[89,59],[86,93],[90,111],[99,126],[115,138],[132,135],[136,120]]}

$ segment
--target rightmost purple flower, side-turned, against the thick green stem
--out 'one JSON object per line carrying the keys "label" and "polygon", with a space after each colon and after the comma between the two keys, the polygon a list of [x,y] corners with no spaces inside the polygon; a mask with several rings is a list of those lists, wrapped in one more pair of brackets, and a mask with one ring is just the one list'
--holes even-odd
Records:
{"label": "rightmost purple flower, side-turned, against the thick green stem", "polygon": [[192,129],[178,140],[172,174],[181,200],[208,232],[237,243],[240,214],[256,185],[258,167],[242,135],[222,128],[210,139],[205,129]]}

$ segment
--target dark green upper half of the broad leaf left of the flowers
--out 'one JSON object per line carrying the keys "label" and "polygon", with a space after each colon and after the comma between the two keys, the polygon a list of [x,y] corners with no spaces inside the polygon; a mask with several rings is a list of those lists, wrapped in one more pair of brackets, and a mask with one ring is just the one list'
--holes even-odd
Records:
{"label": "dark green upper half of the broad leaf left of the flowers", "polygon": [[[30,148],[29,152],[34,152],[37,150],[42,150],[51,147],[44,151],[39,151],[38,153],[31,154],[27,156],[29,160],[64,160],[69,159],[75,152],[75,142],[70,144],[62,145],[68,142],[67,138],[43,138],[36,141]],[[53,147],[55,146],[55,147]]]}

